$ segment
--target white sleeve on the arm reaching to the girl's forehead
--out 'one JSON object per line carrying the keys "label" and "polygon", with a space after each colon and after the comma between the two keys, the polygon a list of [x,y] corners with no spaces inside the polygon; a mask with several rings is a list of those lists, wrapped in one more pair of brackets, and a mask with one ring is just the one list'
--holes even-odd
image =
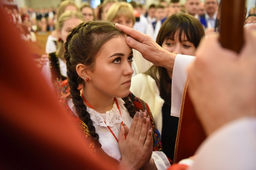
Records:
{"label": "white sleeve on the arm reaching to the girl's forehead", "polygon": [[178,54],[175,58],[172,72],[172,104],[171,115],[180,117],[180,106],[184,85],[187,78],[186,68],[193,62],[194,56]]}

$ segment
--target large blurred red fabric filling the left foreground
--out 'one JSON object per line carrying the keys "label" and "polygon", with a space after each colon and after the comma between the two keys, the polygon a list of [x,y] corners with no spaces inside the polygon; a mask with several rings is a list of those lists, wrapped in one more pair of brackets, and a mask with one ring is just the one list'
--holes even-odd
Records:
{"label": "large blurred red fabric filling the left foreground", "polygon": [[84,143],[3,11],[0,23],[0,167],[116,169]]}

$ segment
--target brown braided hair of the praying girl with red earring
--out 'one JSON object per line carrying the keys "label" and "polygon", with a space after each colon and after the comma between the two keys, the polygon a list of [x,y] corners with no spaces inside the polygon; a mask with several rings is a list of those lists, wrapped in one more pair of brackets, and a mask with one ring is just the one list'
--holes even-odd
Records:
{"label": "brown braided hair of the praying girl with red earring", "polygon": [[[65,47],[64,57],[66,59],[68,85],[70,86],[70,94],[75,105],[76,113],[81,121],[83,121],[90,132],[91,138],[95,143],[95,148],[100,148],[99,135],[92,125],[90,114],[86,110],[86,105],[83,104],[83,99],[78,90],[79,84],[83,84],[84,80],[78,76],[76,72],[76,65],[89,65],[92,69],[95,64],[96,56],[100,48],[111,38],[125,36],[115,25],[111,22],[105,21],[89,21],[76,26],[68,35]],[[123,99],[125,106],[133,117],[136,113],[135,107],[128,100],[128,97]]]}

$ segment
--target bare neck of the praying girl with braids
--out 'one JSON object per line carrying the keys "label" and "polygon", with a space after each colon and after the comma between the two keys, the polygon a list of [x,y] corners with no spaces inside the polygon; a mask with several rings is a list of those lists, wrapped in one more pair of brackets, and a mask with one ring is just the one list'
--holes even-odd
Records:
{"label": "bare neck of the praying girl with braids", "polygon": [[[102,94],[96,94],[93,91],[89,91],[86,87],[83,87],[84,98],[87,102],[99,113],[106,113],[112,109],[114,103],[114,97],[105,96]],[[84,102],[85,103],[85,102]],[[86,104],[88,107],[88,105]]]}

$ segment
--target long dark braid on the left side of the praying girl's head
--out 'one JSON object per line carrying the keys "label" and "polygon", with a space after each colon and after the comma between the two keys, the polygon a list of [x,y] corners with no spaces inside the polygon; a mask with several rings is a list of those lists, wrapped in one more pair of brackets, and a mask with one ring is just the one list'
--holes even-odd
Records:
{"label": "long dark braid on the left side of the praying girl's head", "polygon": [[79,119],[83,121],[90,132],[90,135],[92,137],[92,140],[95,143],[96,148],[100,148],[101,144],[99,143],[99,135],[96,133],[95,127],[92,125],[92,120],[90,118],[90,114],[86,110],[86,105],[83,103],[83,98],[80,96],[80,91],[78,90],[79,86],[79,76],[76,72],[71,71],[71,61],[70,61],[70,55],[68,51],[68,44],[73,36],[74,33],[78,32],[80,28],[74,29],[70,35],[67,38],[67,41],[65,43],[65,59],[66,59],[66,67],[67,67],[67,76],[68,76],[68,85],[70,86],[70,94],[72,97],[72,102],[75,105],[76,113],[79,116]]}

